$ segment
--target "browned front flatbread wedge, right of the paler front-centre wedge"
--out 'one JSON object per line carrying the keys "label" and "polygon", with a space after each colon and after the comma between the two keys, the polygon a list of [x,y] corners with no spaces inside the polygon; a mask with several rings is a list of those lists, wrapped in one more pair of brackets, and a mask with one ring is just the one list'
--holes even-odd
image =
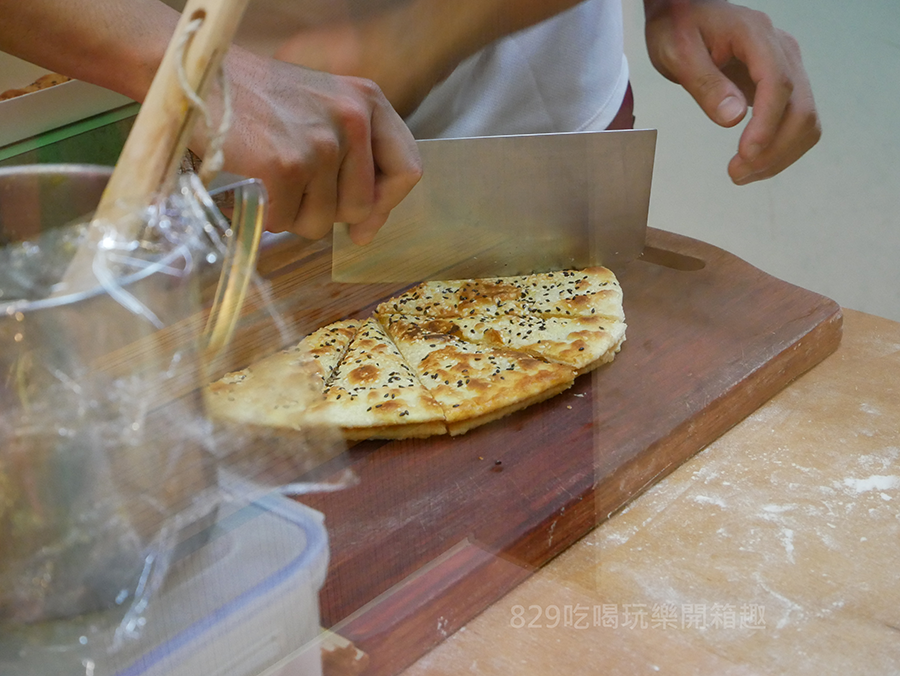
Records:
{"label": "browned front flatbread wedge, right of the paler front-centre wedge", "polygon": [[452,320],[380,318],[444,410],[451,435],[496,420],[567,389],[573,368],[461,339]]}

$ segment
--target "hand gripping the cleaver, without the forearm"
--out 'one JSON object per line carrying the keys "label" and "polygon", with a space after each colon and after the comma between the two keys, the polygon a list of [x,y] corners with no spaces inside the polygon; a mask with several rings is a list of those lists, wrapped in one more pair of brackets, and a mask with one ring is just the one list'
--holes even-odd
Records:
{"label": "hand gripping the cleaver, without the forearm", "polygon": [[355,242],[371,241],[422,174],[415,140],[378,86],[236,47],[226,69],[225,168],[263,180],[267,228],[318,239],[345,222]]}

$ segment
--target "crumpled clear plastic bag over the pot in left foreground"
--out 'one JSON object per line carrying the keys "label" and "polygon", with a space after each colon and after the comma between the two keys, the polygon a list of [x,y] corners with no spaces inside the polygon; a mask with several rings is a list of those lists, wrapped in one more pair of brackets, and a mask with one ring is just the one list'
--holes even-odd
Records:
{"label": "crumpled clear plastic bag over the pot in left foreground", "polygon": [[[117,627],[102,653],[140,635],[171,561],[202,544],[223,500],[302,491],[344,449],[328,430],[254,444],[205,415],[212,378],[300,336],[196,177],[146,210],[139,240],[106,233],[97,288],[54,293],[108,176],[0,170],[0,624],[77,643],[52,627],[93,617]],[[261,184],[229,188],[235,217],[258,225]]]}

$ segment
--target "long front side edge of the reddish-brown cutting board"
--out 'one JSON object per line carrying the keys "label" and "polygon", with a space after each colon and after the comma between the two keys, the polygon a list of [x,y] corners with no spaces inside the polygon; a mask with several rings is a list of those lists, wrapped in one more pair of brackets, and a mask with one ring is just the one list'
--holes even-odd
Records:
{"label": "long front side edge of the reddish-brown cutting board", "polygon": [[[734,399],[723,393],[701,418],[676,427],[667,438],[602,478],[588,492],[573,496],[501,553],[491,554],[469,542],[342,622],[336,630],[370,655],[366,676],[396,674],[413,664],[833,354],[841,341],[843,313],[836,303],[823,297],[816,314],[821,320],[808,332],[735,385],[747,393],[738,415],[734,414]],[[725,408],[730,410],[729,416],[721,415]],[[622,486],[631,488],[623,493],[619,490]],[[560,521],[566,522],[564,527]],[[550,537],[554,531],[566,535],[554,540]]]}

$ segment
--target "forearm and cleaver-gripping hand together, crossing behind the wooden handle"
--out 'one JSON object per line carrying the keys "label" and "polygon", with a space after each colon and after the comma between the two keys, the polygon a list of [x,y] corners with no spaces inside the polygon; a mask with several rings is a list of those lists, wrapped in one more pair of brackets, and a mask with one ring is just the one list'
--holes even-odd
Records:
{"label": "forearm and cleaver-gripping hand together, crossing behind the wooden handle", "polygon": [[[179,15],[157,0],[0,0],[0,49],[143,100]],[[225,168],[263,179],[267,225],[306,237],[334,222],[374,237],[421,175],[403,120],[373,83],[239,48],[226,57],[234,122]],[[192,148],[202,156],[204,139]]]}

